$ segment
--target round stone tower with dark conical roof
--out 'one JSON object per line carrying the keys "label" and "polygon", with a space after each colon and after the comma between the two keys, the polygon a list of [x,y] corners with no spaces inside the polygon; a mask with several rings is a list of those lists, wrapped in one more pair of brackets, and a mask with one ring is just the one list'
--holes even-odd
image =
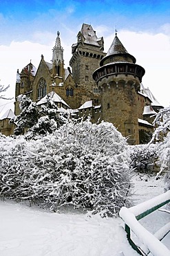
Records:
{"label": "round stone tower with dark conical roof", "polygon": [[128,143],[139,143],[138,91],[145,69],[136,64],[118,39],[117,33],[100,68],[93,73],[101,93],[102,118],[112,122]]}

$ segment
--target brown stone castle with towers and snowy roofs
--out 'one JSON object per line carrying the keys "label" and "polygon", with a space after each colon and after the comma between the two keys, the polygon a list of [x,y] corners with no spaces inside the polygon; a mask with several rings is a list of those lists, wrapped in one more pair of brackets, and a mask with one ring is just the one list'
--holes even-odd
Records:
{"label": "brown stone castle with towers and snowy roofs", "polygon": [[[51,62],[41,55],[37,70],[30,62],[21,73],[17,71],[16,99],[25,94],[41,106],[50,93],[59,111],[70,109],[72,116],[90,115],[92,122],[112,122],[130,145],[144,143],[153,131],[152,116],[162,106],[142,85],[145,69],[136,64],[136,58],[127,52],[117,33],[104,53],[103,37],[98,38],[91,25],[83,24],[72,45],[70,66],[72,69],[64,67],[58,32]],[[16,100],[14,114],[19,113]],[[3,121],[8,119],[6,115]],[[4,126],[1,122],[2,118],[0,131],[12,134],[12,128],[7,129],[7,123]]]}

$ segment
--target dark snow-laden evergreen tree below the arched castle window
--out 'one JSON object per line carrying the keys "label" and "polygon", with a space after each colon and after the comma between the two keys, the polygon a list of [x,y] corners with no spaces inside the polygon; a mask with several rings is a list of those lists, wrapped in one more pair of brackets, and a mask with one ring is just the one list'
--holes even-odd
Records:
{"label": "dark snow-laden evergreen tree below the arched castle window", "polygon": [[20,102],[21,113],[10,120],[10,122],[17,124],[14,129],[15,135],[21,135],[25,132],[26,138],[30,139],[37,135],[52,134],[66,120],[64,114],[58,113],[58,108],[50,97],[47,97],[47,104],[40,109],[36,102],[33,102],[26,95],[19,95],[17,100]]}

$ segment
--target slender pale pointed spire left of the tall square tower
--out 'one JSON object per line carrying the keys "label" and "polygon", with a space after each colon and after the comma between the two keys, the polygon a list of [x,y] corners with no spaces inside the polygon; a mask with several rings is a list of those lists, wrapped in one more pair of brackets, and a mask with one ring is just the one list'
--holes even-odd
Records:
{"label": "slender pale pointed spire left of the tall square tower", "polygon": [[60,33],[57,32],[56,43],[52,49],[52,75],[65,77],[63,47],[61,46]]}

